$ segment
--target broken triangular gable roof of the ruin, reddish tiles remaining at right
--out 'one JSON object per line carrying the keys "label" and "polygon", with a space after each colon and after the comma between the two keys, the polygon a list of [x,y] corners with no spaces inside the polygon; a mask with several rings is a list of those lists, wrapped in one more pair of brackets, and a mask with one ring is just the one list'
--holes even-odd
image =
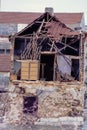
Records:
{"label": "broken triangular gable roof of the ruin, reddish tiles remaining at right", "polygon": [[[41,28],[41,27],[42,28]],[[35,27],[35,28],[33,28]],[[47,34],[57,33],[57,34],[66,34],[66,35],[78,35],[77,32],[68,28],[65,23],[62,23],[56,16],[51,16],[49,13],[44,13],[39,18],[31,22],[26,28],[20,31],[17,35],[32,34],[33,32],[38,31],[39,27],[41,30],[47,30]],[[33,28],[33,30],[32,30]],[[32,30],[32,31],[30,31]],[[27,32],[28,31],[28,32]],[[43,32],[42,32],[43,33]]]}

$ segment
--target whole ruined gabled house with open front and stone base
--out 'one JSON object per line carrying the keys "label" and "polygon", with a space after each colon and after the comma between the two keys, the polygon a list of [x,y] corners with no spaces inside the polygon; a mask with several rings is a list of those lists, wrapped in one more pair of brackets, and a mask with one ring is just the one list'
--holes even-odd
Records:
{"label": "whole ruined gabled house with open front and stone base", "polygon": [[85,37],[53,12],[10,37],[11,82],[9,93],[2,96],[7,104],[3,122],[82,117]]}

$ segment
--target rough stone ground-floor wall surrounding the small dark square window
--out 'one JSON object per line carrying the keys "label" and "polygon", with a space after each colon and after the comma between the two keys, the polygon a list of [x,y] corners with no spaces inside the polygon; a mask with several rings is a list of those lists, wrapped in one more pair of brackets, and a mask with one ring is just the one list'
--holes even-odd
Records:
{"label": "rough stone ground-floor wall surrounding the small dark square window", "polygon": [[[0,95],[3,122],[10,124],[34,123],[40,118],[82,116],[83,86],[80,82],[16,82],[10,85],[9,92]],[[23,112],[23,97],[37,96],[36,115]],[[1,108],[0,108],[1,110]],[[1,116],[1,115],[0,115]]]}

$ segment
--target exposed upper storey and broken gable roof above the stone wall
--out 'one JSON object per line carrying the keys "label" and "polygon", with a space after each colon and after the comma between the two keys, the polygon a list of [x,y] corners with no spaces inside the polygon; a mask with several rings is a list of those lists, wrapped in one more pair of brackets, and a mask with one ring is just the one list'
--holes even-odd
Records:
{"label": "exposed upper storey and broken gable roof above the stone wall", "polygon": [[83,37],[44,13],[14,36],[17,79],[81,81]]}

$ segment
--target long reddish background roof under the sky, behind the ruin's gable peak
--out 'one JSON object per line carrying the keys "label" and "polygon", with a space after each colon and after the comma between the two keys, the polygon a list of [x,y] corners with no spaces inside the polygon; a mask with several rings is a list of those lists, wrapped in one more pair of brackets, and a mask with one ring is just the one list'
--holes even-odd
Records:
{"label": "long reddish background roof under the sky, behind the ruin's gable peak", "polygon": [[[0,12],[0,23],[30,24],[43,13],[35,12]],[[55,13],[55,16],[65,24],[81,22],[83,13]]]}

